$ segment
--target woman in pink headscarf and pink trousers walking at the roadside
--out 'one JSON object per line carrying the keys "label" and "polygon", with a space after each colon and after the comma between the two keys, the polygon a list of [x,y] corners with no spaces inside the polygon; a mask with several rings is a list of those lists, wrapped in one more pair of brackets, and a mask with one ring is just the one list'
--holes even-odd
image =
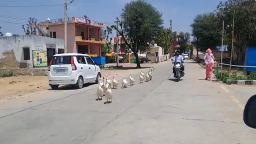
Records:
{"label": "woman in pink headscarf and pink trousers walking at the roadside", "polygon": [[206,78],[205,80],[212,80],[212,71],[213,71],[213,65],[214,65],[214,56],[212,54],[211,49],[206,50],[206,54],[204,56],[204,62],[206,64]]}

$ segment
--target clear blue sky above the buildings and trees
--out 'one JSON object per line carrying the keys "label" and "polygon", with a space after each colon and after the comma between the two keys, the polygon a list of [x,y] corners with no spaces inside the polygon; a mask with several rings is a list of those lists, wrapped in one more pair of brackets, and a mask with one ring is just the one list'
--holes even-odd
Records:
{"label": "clear blue sky above the buildings and trees", "polygon": [[[70,2],[71,0],[67,0]],[[105,25],[113,25],[120,16],[125,3],[131,0],[74,0],[68,5],[68,16],[82,17],[100,21]],[[146,0],[157,8],[163,15],[165,28],[169,28],[172,20],[172,31],[191,33],[190,24],[198,14],[213,12],[220,0]],[[0,0],[0,27],[2,33],[23,35],[22,24],[27,23],[29,17],[37,18],[38,22],[47,18],[64,17],[64,0]],[[1,6],[35,6],[52,5],[47,7],[1,7]],[[15,24],[14,24],[15,23]]]}

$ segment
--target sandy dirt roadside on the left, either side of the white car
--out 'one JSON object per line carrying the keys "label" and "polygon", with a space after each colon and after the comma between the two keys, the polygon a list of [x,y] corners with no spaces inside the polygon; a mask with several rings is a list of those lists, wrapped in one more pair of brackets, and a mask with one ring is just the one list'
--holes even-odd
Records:
{"label": "sandy dirt roadside on the left, either side of the white car", "polygon": [[[152,66],[152,65],[150,65]],[[129,73],[138,73],[141,70],[146,71],[148,68],[142,69],[121,69],[121,70],[102,70],[102,76],[116,79],[121,76],[127,76]],[[14,76],[0,78],[0,99],[11,96],[22,96],[26,93],[49,89],[47,76]]]}

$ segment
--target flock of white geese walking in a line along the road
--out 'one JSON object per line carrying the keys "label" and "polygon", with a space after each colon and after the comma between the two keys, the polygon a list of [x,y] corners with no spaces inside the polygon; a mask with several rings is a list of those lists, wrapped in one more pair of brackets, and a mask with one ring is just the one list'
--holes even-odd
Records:
{"label": "flock of white geese walking in a line along the road", "polygon": [[[146,72],[146,74],[144,74],[141,71],[140,76],[139,76],[140,83],[143,83],[144,80],[145,80],[145,82],[148,82],[148,81],[152,80],[152,77],[153,77],[152,72],[154,70],[155,70],[155,67],[151,67]],[[134,80],[134,78],[132,78],[131,73],[130,73],[129,80],[130,80],[130,85],[135,85],[135,80]],[[98,82],[99,82],[99,87],[97,88],[97,91],[96,91],[96,95],[98,97],[97,100],[102,100],[102,97],[105,95],[105,98],[106,98],[105,103],[111,103],[113,94],[112,94],[112,91],[111,91],[110,88],[111,87],[112,87],[112,89],[118,88],[117,80],[115,79],[114,76],[113,76],[112,80],[108,80],[107,78],[105,79],[103,77],[103,82],[101,81],[101,78],[98,79]],[[127,88],[128,84],[129,84],[128,81],[124,77],[122,77],[122,88]],[[110,102],[108,100],[110,100]]]}

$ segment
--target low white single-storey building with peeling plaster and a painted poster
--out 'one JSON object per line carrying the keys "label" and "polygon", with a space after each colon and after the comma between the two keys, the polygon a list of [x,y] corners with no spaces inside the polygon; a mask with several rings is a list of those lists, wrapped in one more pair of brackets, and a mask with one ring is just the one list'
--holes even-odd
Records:
{"label": "low white single-storey building with peeling plaster and a painted poster", "polygon": [[46,75],[54,54],[64,52],[63,39],[24,35],[0,38],[0,72]]}

